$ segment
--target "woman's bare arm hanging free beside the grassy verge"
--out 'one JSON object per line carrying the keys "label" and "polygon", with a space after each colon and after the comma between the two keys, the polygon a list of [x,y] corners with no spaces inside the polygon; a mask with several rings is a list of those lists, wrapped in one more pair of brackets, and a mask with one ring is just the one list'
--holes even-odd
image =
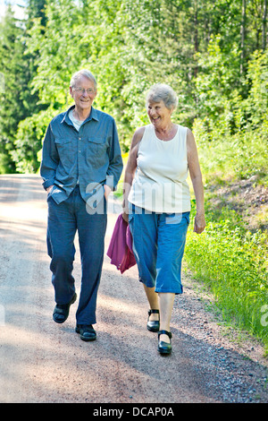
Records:
{"label": "woman's bare arm hanging free beside the grassy verge", "polygon": [[187,132],[188,169],[197,202],[194,231],[201,234],[205,229],[204,186],[197,154],[197,144],[193,133]]}

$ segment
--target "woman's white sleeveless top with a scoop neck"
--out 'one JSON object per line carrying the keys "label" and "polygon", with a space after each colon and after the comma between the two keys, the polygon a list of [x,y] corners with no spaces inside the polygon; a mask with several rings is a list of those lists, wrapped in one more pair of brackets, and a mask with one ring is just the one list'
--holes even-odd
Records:
{"label": "woman's white sleeveless top with a scoop neck", "polygon": [[161,141],[147,125],[139,143],[129,202],[157,213],[190,211],[187,183],[187,127],[177,125],[171,141]]}

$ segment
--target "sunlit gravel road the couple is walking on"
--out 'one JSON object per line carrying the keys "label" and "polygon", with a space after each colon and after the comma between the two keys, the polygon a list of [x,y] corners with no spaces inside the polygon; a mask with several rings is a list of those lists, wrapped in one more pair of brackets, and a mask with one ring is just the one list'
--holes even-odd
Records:
{"label": "sunlit gravel road the couple is walking on", "polygon": [[[109,213],[106,249],[116,218]],[[77,303],[67,322],[54,323],[46,192],[38,176],[0,176],[0,259],[1,403],[268,401],[262,349],[224,336],[190,279],[175,300],[170,357],[158,355],[157,335],[146,329],[137,268],[121,275],[107,256],[97,340],[83,342],[74,332]],[[74,268],[80,292],[79,253]]]}

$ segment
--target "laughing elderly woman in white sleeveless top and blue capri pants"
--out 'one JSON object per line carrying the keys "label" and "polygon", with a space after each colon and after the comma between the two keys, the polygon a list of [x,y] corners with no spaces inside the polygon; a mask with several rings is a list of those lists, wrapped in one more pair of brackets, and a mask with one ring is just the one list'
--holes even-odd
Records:
{"label": "laughing elderly woman in white sleeveless top and blue capri pants", "polygon": [[197,202],[194,231],[205,229],[204,188],[193,133],[172,123],[177,96],[156,84],[147,94],[150,124],[134,133],[124,177],[123,219],[129,221],[139,280],[150,310],[147,329],[158,331],[158,351],[172,352],[170,321],[180,279],[190,212],[188,171]]}

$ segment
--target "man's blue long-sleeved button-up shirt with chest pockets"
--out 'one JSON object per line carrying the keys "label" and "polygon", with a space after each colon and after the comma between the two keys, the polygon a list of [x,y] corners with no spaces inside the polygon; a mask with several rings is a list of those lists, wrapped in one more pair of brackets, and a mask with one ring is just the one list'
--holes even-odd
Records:
{"label": "man's blue long-sleeved button-up shirt with chest pockets", "polygon": [[[103,185],[115,190],[122,171],[121,149],[112,116],[92,107],[76,130],[69,111],[55,116],[46,130],[40,174],[55,202],[66,200],[79,183],[82,198],[90,203]],[[92,202],[92,201],[91,201]]]}

